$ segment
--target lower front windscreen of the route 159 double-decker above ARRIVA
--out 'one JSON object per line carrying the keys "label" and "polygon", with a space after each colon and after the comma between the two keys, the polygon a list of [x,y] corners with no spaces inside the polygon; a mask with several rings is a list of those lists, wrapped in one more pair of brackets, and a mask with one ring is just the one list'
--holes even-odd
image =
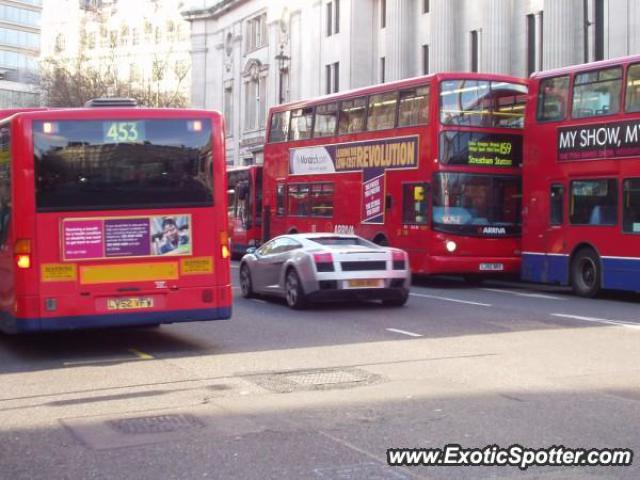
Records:
{"label": "lower front windscreen of the route 159 double-decker above ARRIVA", "polygon": [[519,177],[436,173],[433,229],[470,236],[513,236],[521,230]]}

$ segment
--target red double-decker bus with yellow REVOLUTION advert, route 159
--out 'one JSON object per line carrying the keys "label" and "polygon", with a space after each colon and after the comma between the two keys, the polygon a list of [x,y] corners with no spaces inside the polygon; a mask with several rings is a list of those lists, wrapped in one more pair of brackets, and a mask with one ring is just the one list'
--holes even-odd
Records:
{"label": "red double-decker bus with yellow REVOLUTION advert, route 159", "polygon": [[526,91],[449,73],[273,108],[265,236],[357,233],[419,274],[519,272]]}

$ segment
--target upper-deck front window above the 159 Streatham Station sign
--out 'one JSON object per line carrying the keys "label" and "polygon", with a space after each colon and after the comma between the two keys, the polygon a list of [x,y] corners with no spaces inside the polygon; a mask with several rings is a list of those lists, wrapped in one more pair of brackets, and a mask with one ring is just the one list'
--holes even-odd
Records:
{"label": "upper-deck front window above the 159 Streatham Station sign", "polygon": [[522,128],[527,88],[486,80],[445,80],[440,86],[443,125]]}

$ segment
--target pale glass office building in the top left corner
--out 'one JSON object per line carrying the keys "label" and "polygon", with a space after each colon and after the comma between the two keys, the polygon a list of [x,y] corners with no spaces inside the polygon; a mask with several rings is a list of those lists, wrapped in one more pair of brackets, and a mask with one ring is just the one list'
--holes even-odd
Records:
{"label": "pale glass office building in the top left corner", "polygon": [[42,0],[0,0],[0,108],[40,105]]}

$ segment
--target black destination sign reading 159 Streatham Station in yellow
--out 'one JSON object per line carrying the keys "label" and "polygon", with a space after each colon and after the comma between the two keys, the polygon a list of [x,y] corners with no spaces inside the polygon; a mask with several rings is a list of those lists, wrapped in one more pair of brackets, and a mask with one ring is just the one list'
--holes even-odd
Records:
{"label": "black destination sign reading 159 Streatham Station in yellow", "polygon": [[519,167],[522,164],[522,136],[482,132],[442,132],[440,163],[480,167]]}

